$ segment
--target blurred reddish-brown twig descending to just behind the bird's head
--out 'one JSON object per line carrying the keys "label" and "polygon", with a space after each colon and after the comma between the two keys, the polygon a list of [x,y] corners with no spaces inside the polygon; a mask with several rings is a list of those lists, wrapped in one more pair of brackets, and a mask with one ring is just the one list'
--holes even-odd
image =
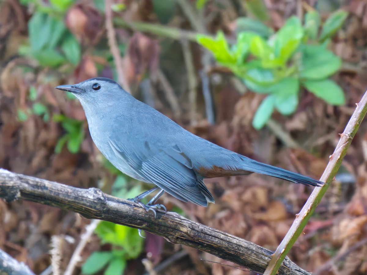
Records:
{"label": "blurred reddish-brown twig descending to just behind the bird's head", "polygon": [[112,0],[105,0],[106,30],[107,30],[108,44],[110,46],[113,60],[115,61],[118,82],[121,85],[121,87],[125,89],[125,91],[130,93],[130,88],[123,70],[120,50],[119,47],[117,47],[116,32],[115,29],[113,28],[112,23],[113,13],[111,10],[111,5]]}

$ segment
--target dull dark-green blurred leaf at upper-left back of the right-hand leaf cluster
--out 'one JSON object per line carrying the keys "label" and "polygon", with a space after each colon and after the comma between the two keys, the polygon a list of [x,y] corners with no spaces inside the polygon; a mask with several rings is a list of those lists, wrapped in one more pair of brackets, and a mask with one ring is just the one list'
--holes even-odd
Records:
{"label": "dull dark-green blurred leaf at upper-left back of the right-hand leaf cluster", "polygon": [[243,32],[251,32],[261,37],[268,38],[274,33],[274,30],[258,19],[240,17],[236,20],[235,32],[237,35],[241,35]]}

